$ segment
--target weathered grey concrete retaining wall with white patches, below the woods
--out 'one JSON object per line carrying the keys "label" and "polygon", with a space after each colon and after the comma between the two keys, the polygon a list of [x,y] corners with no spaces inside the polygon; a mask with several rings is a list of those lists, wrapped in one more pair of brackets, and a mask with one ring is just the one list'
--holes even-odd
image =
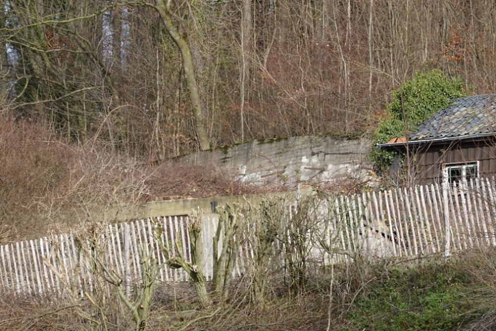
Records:
{"label": "weathered grey concrete retaining wall with white patches, below the woods", "polygon": [[184,157],[196,164],[216,164],[230,176],[253,184],[315,183],[370,175],[371,141],[302,136],[261,139],[201,151]]}

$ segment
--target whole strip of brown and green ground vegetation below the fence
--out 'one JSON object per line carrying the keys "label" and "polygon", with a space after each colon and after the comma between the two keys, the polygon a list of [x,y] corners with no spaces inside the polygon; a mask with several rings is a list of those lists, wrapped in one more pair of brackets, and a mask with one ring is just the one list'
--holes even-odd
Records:
{"label": "whole strip of brown and green ground vegetation below the fence", "polygon": [[[299,293],[276,275],[267,279],[264,305],[250,302],[250,279],[236,280],[227,302],[206,309],[199,307],[190,284],[159,284],[143,330],[493,330],[495,253],[466,252],[450,263],[437,257],[374,264],[357,260],[336,266],[333,282],[329,270],[314,273]],[[117,296],[104,306],[98,306],[103,304],[98,297],[74,301],[2,294],[0,328],[136,330]]]}

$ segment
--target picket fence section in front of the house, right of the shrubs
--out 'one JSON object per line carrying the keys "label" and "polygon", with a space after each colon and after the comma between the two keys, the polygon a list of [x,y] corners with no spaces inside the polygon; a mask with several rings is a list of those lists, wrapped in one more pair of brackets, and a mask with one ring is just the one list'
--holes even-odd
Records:
{"label": "picket fence section in front of the house, right of the shrubs", "polygon": [[[348,226],[339,245],[378,257],[403,257],[496,245],[496,186],[478,180],[463,187],[437,184],[338,197],[334,217]],[[360,236],[350,228],[358,229]],[[351,245],[355,243],[355,246]]]}

